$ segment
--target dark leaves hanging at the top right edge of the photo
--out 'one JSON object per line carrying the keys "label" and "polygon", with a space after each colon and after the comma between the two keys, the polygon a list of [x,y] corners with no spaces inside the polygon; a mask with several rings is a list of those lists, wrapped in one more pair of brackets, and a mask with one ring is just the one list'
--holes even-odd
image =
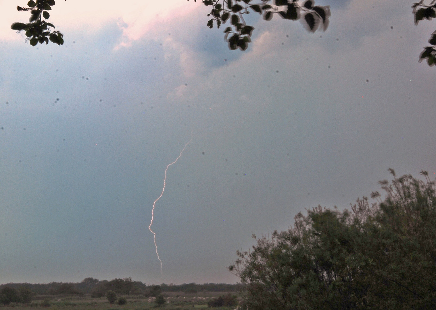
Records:
{"label": "dark leaves hanging at the top right edge of the photo", "polygon": [[[412,9],[415,25],[418,25],[420,20],[432,20],[436,17],[436,0],[421,0],[413,3]],[[436,30],[431,34],[429,44],[432,46],[424,47],[424,51],[419,55],[419,62],[427,59],[427,64],[432,67],[436,64]]]}

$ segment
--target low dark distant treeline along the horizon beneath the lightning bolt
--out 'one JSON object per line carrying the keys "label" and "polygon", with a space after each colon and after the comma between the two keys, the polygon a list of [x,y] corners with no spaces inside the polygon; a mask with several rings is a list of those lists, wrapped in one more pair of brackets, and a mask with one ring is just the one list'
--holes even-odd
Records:
{"label": "low dark distant treeline along the horizon beneath the lightning bolt", "polygon": [[225,283],[184,283],[180,285],[160,284],[146,285],[140,281],[133,281],[131,277],[113,280],[98,280],[94,278],[85,278],[80,283],[69,282],[51,282],[47,284],[32,283],[8,283],[0,285],[0,290],[4,286],[14,289],[27,287],[34,295],[83,295],[91,294],[92,297],[103,297],[108,290],[112,290],[120,295],[144,295],[147,297],[157,296],[164,292],[184,292],[197,293],[201,291],[208,292],[234,292],[240,290],[242,284],[225,284]]}

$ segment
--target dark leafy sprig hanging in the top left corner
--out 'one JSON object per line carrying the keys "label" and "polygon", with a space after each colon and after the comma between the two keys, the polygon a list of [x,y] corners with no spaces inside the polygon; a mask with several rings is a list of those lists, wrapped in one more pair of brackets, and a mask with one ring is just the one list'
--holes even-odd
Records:
{"label": "dark leafy sprig hanging in the top left corner", "polygon": [[64,35],[60,31],[51,31],[50,27],[54,28],[54,25],[48,23],[47,20],[50,17],[49,10],[54,5],[54,0],[30,0],[27,2],[27,7],[18,7],[18,11],[29,11],[31,17],[29,23],[14,23],[10,26],[12,30],[20,32],[24,30],[26,32],[26,40],[29,40],[30,45],[35,46],[40,43],[48,44],[48,40],[58,45],[64,44]]}

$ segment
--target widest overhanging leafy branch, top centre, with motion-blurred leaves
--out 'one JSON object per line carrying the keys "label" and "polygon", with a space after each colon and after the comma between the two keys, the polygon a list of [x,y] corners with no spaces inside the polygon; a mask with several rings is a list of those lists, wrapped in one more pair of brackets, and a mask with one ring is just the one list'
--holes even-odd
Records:
{"label": "widest overhanging leafy branch, top centre, with motion-blurred leaves", "polygon": [[[189,0],[188,0],[189,1]],[[197,2],[197,0],[194,0]],[[231,50],[240,49],[245,51],[251,42],[251,35],[254,27],[247,25],[244,14],[250,11],[263,15],[264,20],[271,20],[273,14],[287,20],[299,20],[307,26],[307,30],[315,32],[318,29],[325,31],[329,24],[330,7],[314,6],[313,0],[306,0],[300,4],[299,0],[260,0],[254,3],[252,0],[203,0],[205,6],[211,6],[212,18],[208,21],[208,27],[213,28],[214,24],[219,28],[230,20],[231,26],[224,30],[225,40]]]}

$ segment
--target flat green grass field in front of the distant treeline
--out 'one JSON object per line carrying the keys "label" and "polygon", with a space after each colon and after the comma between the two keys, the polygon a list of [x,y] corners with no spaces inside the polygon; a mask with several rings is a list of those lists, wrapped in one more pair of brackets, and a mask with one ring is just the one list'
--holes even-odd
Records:
{"label": "flat green grass field in front of the distant treeline", "polygon": [[[28,305],[21,303],[10,303],[7,306],[0,306],[2,310],[31,310],[31,308],[40,308],[47,310],[148,310],[148,309],[165,309],[165,310],[193,310],[208,309],[208,301],[213,297],[225,295],[227,292],[200,292],[186,294],[183,292],[164,293],[167,301],[164,306],[157,307],[156,303],[149,302],[148,298],[142,296],[122,296],[127,299],[124,305],[116,303],[109,305],[105,297],[92,298],[90,296],[51,296],[39,295],[34,296],[32,302]],[[235,293],[232,293],[235,295]],[[121,296],[117,296],[121,297]],[[211,310],[233,310],[235,307],[218,307]]]}

